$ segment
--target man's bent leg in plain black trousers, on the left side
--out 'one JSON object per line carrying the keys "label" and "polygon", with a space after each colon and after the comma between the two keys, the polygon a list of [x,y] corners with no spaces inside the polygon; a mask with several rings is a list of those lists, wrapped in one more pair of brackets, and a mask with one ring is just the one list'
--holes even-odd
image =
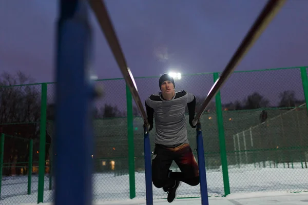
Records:
{"label": "man's bent leg in plain black trousers, on the left side", "polygon": [[152,182],[157,188],[172,187],[175,180],[168,177],[173,152],[161,145],[156,145],[152,157]]}

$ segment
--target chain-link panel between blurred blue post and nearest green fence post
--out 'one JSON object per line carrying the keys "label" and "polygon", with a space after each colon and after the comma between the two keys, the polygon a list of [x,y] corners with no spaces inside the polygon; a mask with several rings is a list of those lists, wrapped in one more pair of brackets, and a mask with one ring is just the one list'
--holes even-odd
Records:
{"label": "chain-link panel between blurred blue post and nearest green fence post", "polygon": [[[95,101],[93,200],[129,198],[126,83],[99,80],[104,97]],[[106,189],[108,187],[108,189]]]}

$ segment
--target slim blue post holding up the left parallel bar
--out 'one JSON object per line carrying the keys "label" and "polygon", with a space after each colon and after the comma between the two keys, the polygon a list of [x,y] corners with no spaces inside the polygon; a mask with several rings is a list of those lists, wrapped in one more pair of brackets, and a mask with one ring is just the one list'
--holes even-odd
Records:
{"label": "slim blue post holding up the left parallel bar", "polygon": [[152,189],[152,169],[151,169],[151,146],[148,127],[144,128],[144,169],[145,169],[145,192],[146,192],[146,205],[153,205],[153,189]]}

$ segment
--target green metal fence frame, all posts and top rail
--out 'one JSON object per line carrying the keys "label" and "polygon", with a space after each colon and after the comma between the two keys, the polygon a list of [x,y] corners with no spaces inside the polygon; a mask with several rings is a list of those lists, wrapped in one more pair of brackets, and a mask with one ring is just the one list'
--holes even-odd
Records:
{"label": "green metal fence frame, all posts and top rail", "polygon": [[[239,72],[255,72],[255,71],[269,71],[269,70],[281,70],[281,69],[299,69],[302,80],[302,87],[304,91],[304,97],[306,105],[308,103],[308,79],[307,79],[307,67],[292,67],[292,68],[277,68],[277,69],[263,69],[263,70],[252,70],[252,71],[235,71],[235,73]],[[213,75],[214,82],[219,77],[219,72],[213,73],[197,73],[197,74],[188,74],[188,75],[204,75],[211,74]],[[159,77],[159,76],[151,76],[151,77]],[[151,78],[148,77],[148,78]],[[147,78],[147,77],[137,77],[137,78]],[[123,79],[123,78],[114,78],[115,79]],[[100,80],[112,80],[112,79],[100,79]],[[100,81],[98,80],[98,81]],[[44,176],[45,176],[45,146],[46,146],[46,111],[47,111],[47,84],[53,83],[42,83],[42,84],[28,84],[28,85],[41,85],[41,119],[40,119],[40,153],[39,153],[39,167],[38,167],[38,192],[37,192],[37,203],[44,202]],[[28,86],[28,85],[15,85],[15,86]],[[14,86],[14,87],[15,87]],[[3,86],[10,87],[10,86]],[[219,147],[220,147],[220,157],[222,164],[222,174],[223,174],[223,185],[224,185],[224,196],[230,194],[230,185],[229,185],[229,177],[228,177],[228,164],[227,164],[227,152],[225,147],[225,135],[224,135],[224,125],[223,125],[223,117],[222,117],[222,108],[221,108],[221,96],[220,92],[216,95],[216,114],[217,114],[217,126],[219,131]],[[133,132],[133,110],[132,110],[132,96],[131,93],[126,86],[126,105],[127,105],[127,136],[128,136],[128,167],[129,167],[129,198],[136,197],[136,181],[135,181],[135,159],[136,156],[134,154],[134,132]],[[308,106],[306,106],[308,113]],[[4,144],[5,144],[5,134],[1,134],[0,140],[0,198],[1,198],[1,185],[2,185],[2,173],[3,173],[3,155],[4,155]],[[33,140],[30,140],[30,150],[33,149]],[[29,155],[28,166],[32,169],[32,151]],[[51,163],[51,162],[50,162]],[[51,170],[50,170],[51,171]],[[31,194],[31,173],[28,175],[28,194]],[[51,177],[50,177],[50,185],[49,190],[51,190]]]}

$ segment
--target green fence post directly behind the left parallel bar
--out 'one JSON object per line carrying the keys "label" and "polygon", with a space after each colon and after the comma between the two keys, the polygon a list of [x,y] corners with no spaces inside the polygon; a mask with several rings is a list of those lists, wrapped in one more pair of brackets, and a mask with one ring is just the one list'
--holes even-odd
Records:
{"label": "green fence post directly behind the left parallel bar", "polygon": [[134,173],[134,146],[133,146],[133,114],[132,97],[128,86],[126,85],[126,103],[127,103],[127,136],[128,136],[128,167],[129,167],[129,197],[136,197],[136,184]]}

